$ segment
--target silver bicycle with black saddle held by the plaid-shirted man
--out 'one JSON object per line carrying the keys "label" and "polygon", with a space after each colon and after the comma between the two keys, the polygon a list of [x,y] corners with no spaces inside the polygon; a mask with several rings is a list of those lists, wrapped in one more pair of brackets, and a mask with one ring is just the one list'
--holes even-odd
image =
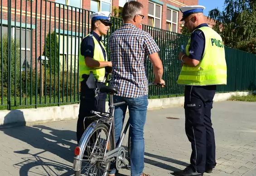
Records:
{"label": "silver bicycle with black saddle held by the plaid-shirted man", "polygon": [[[159,83],[149,83],[150,85],[155,85],[163,88],[164,84]],[[93,122],[87,127],[84,131],[82,138],[80,139],[79,144],[75,148],[75,157],[73,162],[73,170],[75,171],[75,176],[81,176],[82,161],[88,161],[88,164],[96,165],[99,167],[95,175],[94,171],[89,173],[89,169],[86,170],[85,176],[107,176],[108,172],[111,171],[110,164],[113,162],[116,165],[116,170],[119,171],[122,165],[125,165],[127,169],[130,168],[130,135],[128,136],[128,162],[126,164],[126,151],[125,148],[121,146],[125,138],[126,132],[129,127],[129,119],[125,126],[123,133],[121,134],[120,142],[116,147],[115,141],[115,120],[114,120],[114,110],[116,106],[126,104],[126,102],[113,103],[113,95],[118,92],[118,88],[110,86],[102,86],[100,92],[108,93],[110,97],[110,106],[107,112],[96,112],[91,111],[95,116],[85,117],[91,118]],[[129,117],[130,118],[130,117]],[[85,120],[84,119],[84,120]],[[97,144],[100,142],[99,139],[101,132],[103,130],[106,134],[106,140],[101,140],[102,144]],[[96,134],[94,134],[96,132]],[[91,137],[95,137],[96,140],[92,140]],[[102,148],[103,147],[103,148]],[[101,155],[94,152],[102,152]],[[87,154],[87,155],[84,155]],[[105,168],[101,168],[105,165]],[[103,174],[97,175],[98,171],[103,170]]]}

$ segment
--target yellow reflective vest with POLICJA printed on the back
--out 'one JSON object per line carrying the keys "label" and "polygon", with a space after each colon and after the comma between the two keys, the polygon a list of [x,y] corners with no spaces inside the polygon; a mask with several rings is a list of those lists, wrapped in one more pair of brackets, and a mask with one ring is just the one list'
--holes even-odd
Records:
{"label": "yellow reflective vest with POLICJA printed on the back", "polygon": [[[203,58],[195,67],[184,64],[177,83],[199,86],[227,84],[225,49],[221,36],[209,27],[201,27],[198,29],[203,31],[205,36]],[[186,46],[187,56],[189,56],[189,46],[190,39]]]}

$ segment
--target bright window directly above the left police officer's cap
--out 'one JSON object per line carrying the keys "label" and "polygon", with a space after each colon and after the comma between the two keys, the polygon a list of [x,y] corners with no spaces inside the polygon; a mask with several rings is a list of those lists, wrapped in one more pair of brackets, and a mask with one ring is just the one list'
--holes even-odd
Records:
{"label": "bright window directly above the left police officer's cap", "polygon": [[91,0],[92,12],[108,11],[111,12],[111,0]]}

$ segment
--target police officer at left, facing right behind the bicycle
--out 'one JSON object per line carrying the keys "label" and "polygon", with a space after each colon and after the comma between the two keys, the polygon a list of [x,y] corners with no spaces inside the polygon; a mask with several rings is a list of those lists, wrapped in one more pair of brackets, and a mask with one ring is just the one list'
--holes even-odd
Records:
{"label": "police officer at left, facing right behind the bicycle", "polygon": [[91,15],[92,31],[82,39],[79,52],[79,79],[81,83],[80,107],[77,120],[77,144],[84,130],[92,123],[84,117],[93,116],[90,111],[104,111],[106,93],[99,88],[106,85],[107,73],[111,73],[112,63],[107,61],[106,48],[101,36],[106,35],[111,26],[110,12],[97,12]]}

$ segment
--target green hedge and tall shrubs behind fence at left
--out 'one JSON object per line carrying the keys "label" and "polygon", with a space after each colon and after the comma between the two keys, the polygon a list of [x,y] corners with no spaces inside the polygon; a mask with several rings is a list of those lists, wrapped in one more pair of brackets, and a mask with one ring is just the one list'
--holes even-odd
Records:
{"label": "green hedge and tall shrubs behind fence at left", "polygon": [[[55,37],[55,33],[53,32],[52,34],[52,40],[51,40],[51,46],[52,46],[52,51],[51,55],[54,56],[54,50],[53,50],[53,44]],[[49,36],[48,36],[49,37]],[[58,43],[57,43],[58,45]],[[48,46],[48,45],[47,45]],[[54,44],[55,46],[55,44]],[[14,49],[15,48],[15,49]],[[48,48],[47,48],[48,50]],[[2,52],[1,52],[2,51]],[[47,52],[48,53],[48,52]],[[58,51],[57,51],[58,54]],[[51,57],[51,56],[49,56]],[[11,37],[11,97],[14,97],[16,94],[17,97],[22,96],[22,97],[29,97],[29,96],[34,96],[35,95],[35,90],[37,88],[37,94],[40,94],[40,72],[38,71],[37,73],[37,85],[36,85],[36,72],[35,69],[27,69],[27,71],[22,71],[20,72],[20,52],[19,52],[19,41],[16,40],[16,45],[14,38]],[[55,61],[55,60],[53,60]],[[3,62],[3,65],[2,65]],[[3,97],[7,97],[8,93],[8,37],[7,34],[3,35],[3,37],[0,40],[0,95]],[[52,63],[52,70],[54,71],[54,64]],[[42,67],[43,68],[43,67]],[[55,68],[58,70],[58,66]],[[72,91],[72,94],[74,94],[74,85],[76,85],[77,88],[77,75],[76,75],[76,80],[74,79],[74,74],[72,73],[72,77],[70,79],[70,72],[67,75],[67,72],[64,72],[64,77],[63,73],[60,73],[60,77],[58,80],[58,74],[54,76],[53,73],[50,73],[50,68],[47,67],[46,69],[46,74],[43,74],[43,94],[45,95],[45,83],[46,83],[46,95],[54,96],[54,77],[55,77],[55,96],[58,96],[58,81],[59,81],[59,89],[60,89],[60,94],[64,92],[64,95],[67,95],[67,90],[68,90],[68,95],[70,95],[70,91]],[[3,74],[2,74],[3,71]],[[46,75],[46,78],[45,78]],[[68,81],[67,81],[68,77]],[[21,78],[21,79],[20,79]],[[72,85],[70,85],[72,81]],[[63,86],[64,82],[64,86]],[[68,85],[67,85],[68,82]],[[75,82],[75,83],[74,83]],[[3,90],[2,90],[3,89]],[[71,90],[70,90],[71,89]],[[26,91],[27,90],[27,91]],[[77,90],[76,90],[77,91]],[[0,96],[1,97],[1,96]]]}

